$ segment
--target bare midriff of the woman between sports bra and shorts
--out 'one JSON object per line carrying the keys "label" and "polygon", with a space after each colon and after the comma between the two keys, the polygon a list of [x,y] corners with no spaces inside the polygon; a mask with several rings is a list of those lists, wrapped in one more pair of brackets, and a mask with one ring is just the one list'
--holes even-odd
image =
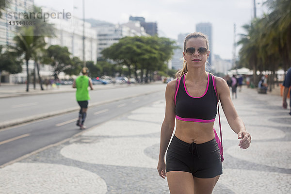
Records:
{"label": "bare midriff of the woman between sports bra and shorts", "polygon": [[212,140],[214,136],[213,125],[211,123],[199,123],[190,121],[177,120],[177,127],[175,131],[175,136],[178,139],[191,144],[192,142],[196,144],[202,144]]}

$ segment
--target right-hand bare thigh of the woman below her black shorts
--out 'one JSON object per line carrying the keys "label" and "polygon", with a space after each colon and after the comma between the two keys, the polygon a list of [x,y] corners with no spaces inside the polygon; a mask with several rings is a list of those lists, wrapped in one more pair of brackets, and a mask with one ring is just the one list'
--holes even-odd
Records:
{"label": "right-hand bare thigh of the woman below her black shorts", "polygon": [[211,194],[220,175],[214,178],[194,178],[194,194]]}

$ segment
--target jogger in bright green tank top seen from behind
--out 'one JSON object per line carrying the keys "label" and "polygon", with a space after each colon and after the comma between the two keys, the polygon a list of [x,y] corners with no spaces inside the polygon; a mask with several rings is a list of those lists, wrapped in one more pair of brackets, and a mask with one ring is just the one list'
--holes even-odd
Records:
{"label": "jogger in bright green tank top seen from behind", "polygon": [[79,76],[74,82],[73,82],[73,88],[77,88],[76,91],[76,99],[80,106],[79,111],[79,117],[77,120],[77,126],[80,127],[80,129],[86,129],[84,126],[84,122],[87,115],[87,109],[88,109],[88,100],[90,99],[88,87],[93,90],[93,84],[91,78],[88,77],[89,70],[87,67],[82,68],[82,76]]}

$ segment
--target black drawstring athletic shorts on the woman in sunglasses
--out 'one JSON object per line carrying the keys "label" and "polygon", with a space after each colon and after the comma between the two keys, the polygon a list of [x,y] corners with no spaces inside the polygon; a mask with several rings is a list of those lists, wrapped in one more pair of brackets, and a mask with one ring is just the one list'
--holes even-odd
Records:
{"label": "black drawstring athletic shorts on the woman in sunglasses", "polygon": [[222,174],[218,144],[214,139],[203,144],[188,144],[175,135],[168,147],[167,172],[184,171],[197,178],[214,178]]}

